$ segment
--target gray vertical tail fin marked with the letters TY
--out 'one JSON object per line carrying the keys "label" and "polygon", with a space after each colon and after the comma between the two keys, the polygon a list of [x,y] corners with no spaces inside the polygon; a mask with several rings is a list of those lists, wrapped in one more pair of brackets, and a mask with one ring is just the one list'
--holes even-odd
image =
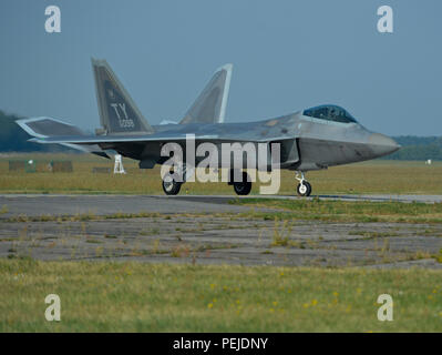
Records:
{"label": "gray vertical tail fin marked with the letters TY", "polygon": [[153,133],[135,102],[105,60],[92,59],[100,122],[104,134]]}

